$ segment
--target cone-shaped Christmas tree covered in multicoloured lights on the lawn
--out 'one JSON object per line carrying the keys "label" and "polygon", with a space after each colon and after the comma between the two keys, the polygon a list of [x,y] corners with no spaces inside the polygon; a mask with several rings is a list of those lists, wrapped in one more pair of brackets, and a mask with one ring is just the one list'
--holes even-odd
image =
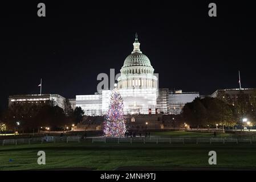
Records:
{"label": "cone-shaped Christmas tree covered in multicoloured lights on the lawn", "polygon": [[104,134],[106,137],[124,136],[126,127],[123,108],[123,98],[117,89],[113,89],[109,109],[104,121]]}

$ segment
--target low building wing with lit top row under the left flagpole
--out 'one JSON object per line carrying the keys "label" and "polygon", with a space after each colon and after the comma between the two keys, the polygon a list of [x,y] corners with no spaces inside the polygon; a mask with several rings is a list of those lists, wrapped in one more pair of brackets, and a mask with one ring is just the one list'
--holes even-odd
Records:
{"label": "low building wing with lit top row under the left flagpole", "polygon": [[65,98],[58,94],[30,94],[9,96],[9,107],[15,104],[21,105],[43,105],[54,104],[64,109]]}

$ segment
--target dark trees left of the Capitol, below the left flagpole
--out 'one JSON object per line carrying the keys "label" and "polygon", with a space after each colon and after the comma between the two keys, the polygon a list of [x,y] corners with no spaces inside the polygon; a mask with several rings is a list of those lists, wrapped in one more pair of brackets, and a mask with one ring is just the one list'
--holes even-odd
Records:
{"label": "dark trees left of the Capitol, below the left flagpole", "polygon": [[79,123],[83,114],[81,107],[73,110],[68,99],[64,101],[64,109],[54,101],[41,105],[13,104],[0,111],[0,132],[13,131],[15,128],[19,132],[38,132],[45,127],[64,130],[66,126]]}

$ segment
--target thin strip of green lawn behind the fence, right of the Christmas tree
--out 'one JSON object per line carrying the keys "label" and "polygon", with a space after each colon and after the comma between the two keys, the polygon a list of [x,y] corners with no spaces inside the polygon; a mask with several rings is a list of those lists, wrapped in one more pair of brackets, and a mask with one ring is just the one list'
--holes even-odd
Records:
{"label": "thin strip of green lawn behind the fence, right of the Christmas tree", "polygon": [[[231,133],[217,133],[217,137],[233,137]],[[159,131],[151,132],[151,136],[156,137],[214,137],[213,133],[199,133],[189,131]]]}

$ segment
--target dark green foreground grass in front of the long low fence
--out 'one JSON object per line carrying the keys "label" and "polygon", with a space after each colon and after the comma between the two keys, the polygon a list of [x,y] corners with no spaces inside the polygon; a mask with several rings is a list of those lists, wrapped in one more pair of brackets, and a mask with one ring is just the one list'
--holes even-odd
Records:
{"label": "dark green foreground grass in front of the long low fence", "polygon": [[[39,150],[46,152],[46,165],[37,164]],[[216,166],[208,164],[210,150],[217,152]],[[119,167],[256,169],[256,144],[84,142],[0,146],[1,170],[58,168],[113,170]]]}

